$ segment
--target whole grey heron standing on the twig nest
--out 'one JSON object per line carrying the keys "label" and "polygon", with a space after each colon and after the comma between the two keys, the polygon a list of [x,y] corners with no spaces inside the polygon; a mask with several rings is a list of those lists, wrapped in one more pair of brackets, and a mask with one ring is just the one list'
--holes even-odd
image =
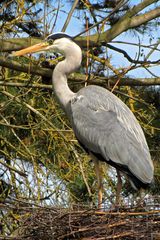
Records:
{"label": "whole grey heron standing on the twig nest", "polygon": [[82,50],[74,37],[53,33],[43,42],[13,52],[22,56],[35,52],[56,52],[64,55],[53,70],[55,95],[65,111],[75,136],[96,163],[99,205],[102,206],[102,176],[99,163],[105,162],[117,170],[117,199],[122,188],[121,173],[136,190],[147,188],[153,181],[154,166],[144,132],[128,106],[109,90],[88,85],[73,92],[67,83],[82,61]]}

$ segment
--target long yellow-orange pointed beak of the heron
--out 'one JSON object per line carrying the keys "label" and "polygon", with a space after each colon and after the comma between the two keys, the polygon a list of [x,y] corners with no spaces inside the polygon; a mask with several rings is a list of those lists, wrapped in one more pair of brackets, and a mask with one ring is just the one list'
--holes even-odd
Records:
{"label": "long yellow-orange pointed beak of the heron", "polygon": [[49,46],[49,44],[47,42],[38,43],[38,44],[35,44],[31,47],[24,48],[20,51],[13,52],[12,56],[22,56],[22,55],[25,55],[27,53],[35,53],[35,52],[45,51],[48,46]]}

